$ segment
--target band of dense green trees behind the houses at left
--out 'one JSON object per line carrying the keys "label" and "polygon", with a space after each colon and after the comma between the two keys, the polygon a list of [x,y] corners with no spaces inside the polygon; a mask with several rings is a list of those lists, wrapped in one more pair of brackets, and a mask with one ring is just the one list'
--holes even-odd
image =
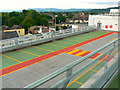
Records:
{"label": "band of dense green trees behind the houses at left", "polygon": [[[12,27],[13,25],[19,25],[27,31],[30,26],[45,25],[48,26],[48,20],[52,19],[51,16],[44,13],[40,14],[35,10],[22,10],[22,12],[10,12],[2,13],[2,25]],[[66,18],[59,14],[56,18],[56,22],[65,22]]]}

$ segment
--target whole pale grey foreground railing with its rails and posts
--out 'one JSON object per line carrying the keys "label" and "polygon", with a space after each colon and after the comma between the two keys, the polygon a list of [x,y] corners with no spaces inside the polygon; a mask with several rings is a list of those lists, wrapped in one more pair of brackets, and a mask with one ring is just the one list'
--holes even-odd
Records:
{"label": "whole pale grey foreground railing with its rails and posts", "polygon": [[[50,74],[50,75],[48,75],[48,76],[34,82],[34,83],[24,87],[23,90],[35,89],[35,88],[47,83],[48,81],[53,80],[54,78],[56,78],[57,76],[63,74],[64,72],[66,72],[66,77],[64,79],[58,81],[57,83],[53,84],[50,87],[50,89],[58,88],[58,87],[61,87],[61,86],[62,86],[62,88],[66,88],[66,86],[69,84],[70,80],[73,79],[78,74],[80,74],[83,70],[87,69],[90,65],[93,65],[95,62],[97,62],[100,58],[102,58],[106,54],[109,54],[108,55],[108,57],[109,57],[110,54],[113,53],[113,50],[115,50],[120,45],[120,43],[117,42],[118,40],[120,40],[120,38],[117,38],[116,40],[114,40],[114,41],[100,47],[99,49],[93,51],[92,53],[88,54],[87,56],[82,57],[81,59],[79,59],[79,60],[77,60],[77,61],[75,61],[75,62],[73,62],[71,64],[68,64],[67,66],[59,69],[58,71],[56,71],[56,72],[54,72],[54,73],[52,73],[52,74]],[[111,45],[113,45],[113,46],[111,46]],[[92,60],[91,62],[87,63],[83,67],[79,68],[74,73],[72,72],[73,68],[75,66],[77,66],[81,62],[85,61],[89,57],[95,55],[96,53],[106,49],[109,46],[111,46],[111,48],[108,49],[107,51],[105,51],[102,55],[98,56],[96,59]],[[108,62],[108,58],[106,59],[105,67],[107,67],[107,62]]]}

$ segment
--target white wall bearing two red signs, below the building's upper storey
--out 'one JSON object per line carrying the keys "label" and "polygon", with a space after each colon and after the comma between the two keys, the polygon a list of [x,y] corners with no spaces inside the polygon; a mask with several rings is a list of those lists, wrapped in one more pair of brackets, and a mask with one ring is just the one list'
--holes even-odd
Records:
{"label": "white wall bearing two red signs, below the building's upper storey", "polygon": [[[118,25],[119,20],[119,16],[89,15],[89,26],[97,26],[97,23],[100,22],[102,24],[101,29],[103,30],[120,31],[118,28],[120,27]],[[107,26],[108,28],[106,28]]]}

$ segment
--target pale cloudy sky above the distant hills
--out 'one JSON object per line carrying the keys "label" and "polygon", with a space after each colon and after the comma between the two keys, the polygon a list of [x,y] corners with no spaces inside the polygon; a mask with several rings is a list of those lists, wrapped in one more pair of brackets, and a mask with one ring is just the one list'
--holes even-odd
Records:
{"label": "pale cloudy sky above the distant hills", "polygon": [[0,10],[28,8],[107,8],[118,6],[119,0],[0,0]]}

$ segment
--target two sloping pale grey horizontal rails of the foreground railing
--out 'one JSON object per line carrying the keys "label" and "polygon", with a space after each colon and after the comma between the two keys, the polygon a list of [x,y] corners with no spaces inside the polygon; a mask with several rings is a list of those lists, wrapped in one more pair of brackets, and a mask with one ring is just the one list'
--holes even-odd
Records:
{"label": "two sloping pale grey horizontal rails of the foreground railing", "polygon": [[[59,87],[59,86],[61,86],[61,85],[63,85],[63,84],[68,83],[71,78],[73,78],[74,76],[78,75],[78,73],[80,73],[82,70],[86,69],[89,65],[91,65],[92,63],[94,63],[95,61],[97,61],[98,59],[100,59],[101,57],[103,57],[103,56],[104,56],[105,54],[107,54],[108,52],[114,50],[114,49],[119,45],[119,44],[115,44],[119,39],[120,39],[120,38],[117,38],[116,40],[114,40],[114,41],[112,41],[112,42],[104,45],[103,47],[101,47],[101,48],[99,48],[99,49],[97,49],[97,50],[95,50],[95,51],[93,51],[92,53],[88,54],[87,56],[82,57],[81,59],[79,59],[79,60],[77,60],[77,61],[75,61],[75,62],[73,62],[73,63],[71,63],[71,64],[68,64],[67,66],[59,69],[58,71],[56,71],[56,72],[54,72],[54,73],[52,73],[52,74],[50,74],[50,75],[48,75],[48,76],[46,76],[46,77],[44,77],[44,78],[42,78],[42,79],[34,82],[34,83],[32,83],[32,84],[24,87],[23,89],[26,90],[26,89],[37,88],[37,87],[39,87],[40,85],[46,83],[47,81],[49,81],[49,80],[57,77],[58,75],[66,72],[66,71],[67,71],[67,77],[66,77],[65,79],[63,79],[62,81],[59,81],[58,83],[56,83],[56,84],[55,84],[54,86],[52,86],[51,88],[57,88],[57,87]],[[108,46],[110,46],[110,45],[112,45],[112,44],[114,44],[114,46],[113,46],[110,50],[106,51],[104,54],[100,55],[99,57],[97,57],[95,60],[91,61],[91,62],[88,63],[87,65],[83,66],[82,68],[80,68],[79,70],[77,70],[75,73],[71,74],[70,71],[72,71],[72,68],[73,68],[73,67],[75,67],[76,65],[80,64],[81,62],[85,61],[85,60],[88,59],[89,57],[93,56],[94,54],[100,52],[101,50],[105,49],[106,47],[108,47]],[[65,86],[66,86],[66,85],[65,85]]]}

